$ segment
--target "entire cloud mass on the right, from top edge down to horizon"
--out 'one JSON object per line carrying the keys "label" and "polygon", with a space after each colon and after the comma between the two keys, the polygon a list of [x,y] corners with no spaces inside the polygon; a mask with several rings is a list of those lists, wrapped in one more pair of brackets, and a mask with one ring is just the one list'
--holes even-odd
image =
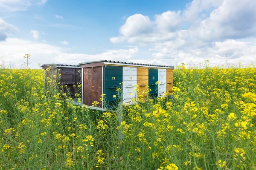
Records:
{"label": "entire cloud mass on the right, from top edge down to horizon", "polygon": [[142,60],[147,63],[198,64],[209,59],[218,65],[225,63],[226,53],[231,63],[255,62],[255,37],[255,0],[193,0],[183,11],[166,11],[152,19],[134,14],[110,40],[153,44],[151,59]]}

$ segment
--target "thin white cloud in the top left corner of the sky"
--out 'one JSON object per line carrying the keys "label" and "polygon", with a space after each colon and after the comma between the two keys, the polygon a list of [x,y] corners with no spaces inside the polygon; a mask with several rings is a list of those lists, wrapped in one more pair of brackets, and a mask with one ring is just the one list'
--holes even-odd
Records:
{"label": "thin white cloud in the top left corner of the sky", "polygon": [[32,0],[0,0],[0,11],[25,11]]}

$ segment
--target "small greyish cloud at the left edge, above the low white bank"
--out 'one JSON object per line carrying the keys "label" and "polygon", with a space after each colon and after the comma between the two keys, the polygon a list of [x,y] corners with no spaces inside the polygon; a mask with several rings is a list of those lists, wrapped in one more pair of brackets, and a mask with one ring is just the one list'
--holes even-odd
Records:
{"label": "small greyish cloud at the left edge, above the low white bank", "polygon": [[8,34],[11,34],[17,30],[17,27],[12,24],[6,23],[2,18],[0,18],[0,41],[4,41]]}

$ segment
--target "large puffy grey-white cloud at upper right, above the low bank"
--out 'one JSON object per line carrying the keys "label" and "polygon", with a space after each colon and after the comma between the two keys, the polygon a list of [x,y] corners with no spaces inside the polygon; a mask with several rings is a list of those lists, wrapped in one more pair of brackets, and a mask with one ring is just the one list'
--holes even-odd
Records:
{"label": "large puffy grey-white cloud at upper right, above the low bank", "polygon": [[[255,0],[193,0],[184,11],[166,11],[156,14],[154,20],[134,14],[120,27],[120,36],[110,40],[113,43],[151,43],[174,38],[213,41],[255,36],[255,9]],[[206,11],[209,17],[202,20],[200,16],[207,16]],[[182,28],[188,26],[186,37],[180,37]]]}

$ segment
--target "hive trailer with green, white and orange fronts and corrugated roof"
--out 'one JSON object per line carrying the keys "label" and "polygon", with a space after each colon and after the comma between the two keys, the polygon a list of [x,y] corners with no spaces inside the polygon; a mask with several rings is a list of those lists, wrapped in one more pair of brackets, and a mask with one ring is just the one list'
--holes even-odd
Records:
{"label": "hive trailer with green, white and orange fronts and corrugated roof", "polygon": [[[164,65],[149,65],[115,61],[94,61],[79,64],[82,77],[82,104],[90,108],[105,110],[122,98],[123,104],[131,103],[148,87],[149,95],[162,96],[173,87],[173,68]],[[157,83],[158,81],[158,83]],[[138,85],[138,93],[135,85]],[[122,95],[118,96],[117,88]],[[102,94],[105,94],[102,101]],[[94,103],[93,103],[94,102]],[[97,103],[95,103],[97,102]]]}

